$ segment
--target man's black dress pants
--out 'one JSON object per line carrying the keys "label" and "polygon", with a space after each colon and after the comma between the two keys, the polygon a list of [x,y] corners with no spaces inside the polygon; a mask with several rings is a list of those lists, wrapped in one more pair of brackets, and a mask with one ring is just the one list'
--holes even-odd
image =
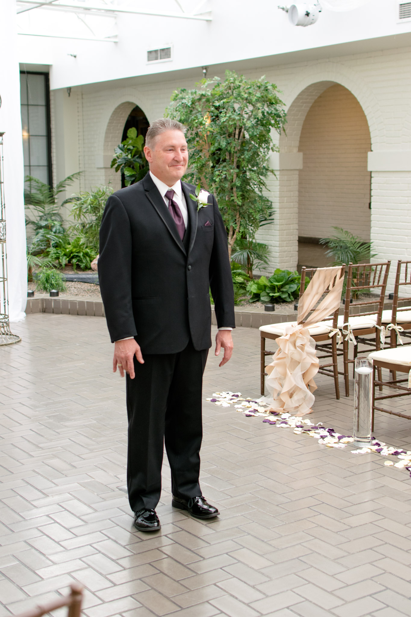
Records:
{"label": "man's black dress pants", "polygon": [[134,512],[154,509],[160,500],[164,444],[173,495],[201,495],[201,389],[207,355],[208,349],[196,351],[190,341],[177,354],[143,354],[144,364],[134,357],[136,376],[126,376],[127,485]]}

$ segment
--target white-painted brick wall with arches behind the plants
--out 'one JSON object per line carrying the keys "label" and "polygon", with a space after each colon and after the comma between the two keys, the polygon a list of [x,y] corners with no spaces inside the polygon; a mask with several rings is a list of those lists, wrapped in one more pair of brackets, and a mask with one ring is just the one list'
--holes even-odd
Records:
{"label": "white-painted brick wall with arches behind the plants", "polygon": [[[307,60],[295,64],[277,64],[237,70],[250,78],[266,75],[282,90],[288,110],[287,135],[279,139],[281,152],[297,152],[301,128],[312,103],[327,88],[340,84],[356,97],[364,110],[370,130],[373,151],[411,151],[411,49],[399,48],[366,52],[351,56],[333,57],[330,61]],[[250,66],[250,60],[248,67]],[[218,69],[213,69],[213,74]],[[211,73],[211,70],[210,70]],[[192,73],[190,73],[192,74]],[[222,73],[219,77],[224,77]],[[71,96],[78,94],[79,167],[83,168],[84,186],[89,188],[107,181],[107,169],[97,168],[96,157],[107,152],[121,139],[121,113],[116,110],[128,103],[139,105],[149,120],[163,115],[171,93],[176,88],[192,88],[201,78],[198,75],[168,80],[166,75],[129,78],[119,82],[78,86]],[[155,81],[157,80],[157,81]],[[131,109],[131,107],[130,107]],[[110,123],[112,118],[112,123]],[[124,116],[125,121],[125,116]],[[54,143],[54,157],[59,159],[59,144]],[[304,169],[304,167],[303,167]],[[298,171],[279,170],[277,180],[269,180],[269,196],[275,209],[275,223],[264,227],[259,238],[270,244],[270,268],[295,268],[298,236]],[[378,254],[405,257],[410,237],[409,218],[410,172],[372,173],[372,232],[371,238]],[[60,180],[60,178],[57,178]],[[115,178],[115,186],[118,186]],[[114,183],[114,181],[113,181]],[[335,188],[335,193],[338,187]],[[393,220],[395,224],[393,223]],[[401,223],[400,223],[401,221]],[[391,230],[391,231],[390,231]]]}

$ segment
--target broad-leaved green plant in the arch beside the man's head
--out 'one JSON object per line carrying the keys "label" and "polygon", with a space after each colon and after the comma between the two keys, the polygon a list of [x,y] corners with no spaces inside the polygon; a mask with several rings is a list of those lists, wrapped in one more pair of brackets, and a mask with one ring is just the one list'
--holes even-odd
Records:
{"label": "broad-leaved green plant in the arch beside the man's head", "polygon": [[115,157],[110,167],[115,167],[124,174],[126,186],[135,184],[144,178],[149,171],[149,164],[144,156],[144,137],[137,137],[137,129],[133,126],[127,131],[127,139],[114,149]]}

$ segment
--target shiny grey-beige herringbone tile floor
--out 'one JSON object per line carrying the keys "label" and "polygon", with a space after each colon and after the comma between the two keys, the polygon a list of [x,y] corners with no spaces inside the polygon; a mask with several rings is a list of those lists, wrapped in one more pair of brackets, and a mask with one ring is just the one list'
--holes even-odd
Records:
{"label": "shiny grey-beige herringbone tile floor", "polygon": [[[171,508],[168,468],[150,537],[132,529],[124,383],[105,321],[39,313],[0,347],[0,617],[86,588],[87,617],[411,615],[411,479],[375,454],[205,403],[200,523]],[[238,328],[204,395],[258,394],[259,333]],[[352,397],[319,377],[312,418],[351,433]],[[341,383],[342,385],[342,383]],[[405,404],[405,402],[404,402]],[[411,423],[376,436],[410,447]]]}

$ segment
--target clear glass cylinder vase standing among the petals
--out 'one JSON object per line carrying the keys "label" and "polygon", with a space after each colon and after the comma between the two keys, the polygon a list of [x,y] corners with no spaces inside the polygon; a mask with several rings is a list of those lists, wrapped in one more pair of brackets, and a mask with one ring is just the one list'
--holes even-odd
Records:
{"label": "clear glass cylinder vase standing among the petals", "polygon": [[371,445],[372,362],[367,357],[355,360],[354,445]]}

